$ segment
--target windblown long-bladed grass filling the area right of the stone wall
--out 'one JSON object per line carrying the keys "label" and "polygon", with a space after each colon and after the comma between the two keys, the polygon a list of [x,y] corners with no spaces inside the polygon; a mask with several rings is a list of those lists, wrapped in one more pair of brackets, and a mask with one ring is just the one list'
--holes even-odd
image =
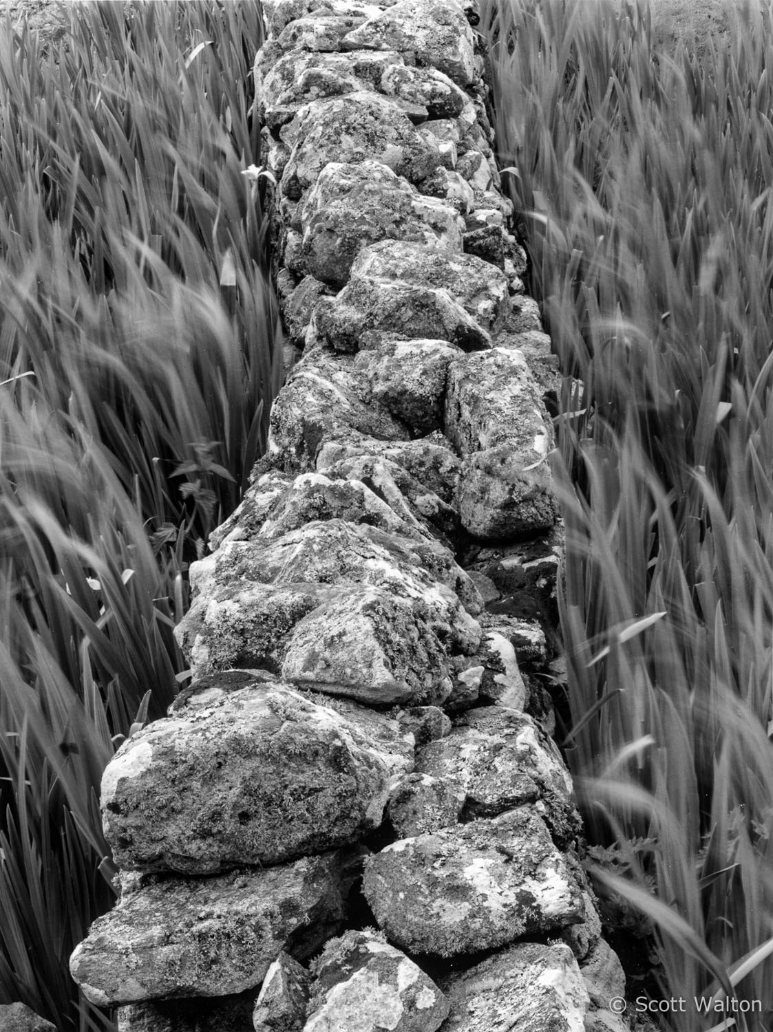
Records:
{"label": "windblown long-bladed grass filling the area right of the stone wall", "polygon": [[655,53],[643,4],[484,8],[563,374],[566,753],[597,873],[651,918],[664,998],[735,993],[764,1008],[736,1027],[771,1027],[773,14],[741,7],[699,62]]}

